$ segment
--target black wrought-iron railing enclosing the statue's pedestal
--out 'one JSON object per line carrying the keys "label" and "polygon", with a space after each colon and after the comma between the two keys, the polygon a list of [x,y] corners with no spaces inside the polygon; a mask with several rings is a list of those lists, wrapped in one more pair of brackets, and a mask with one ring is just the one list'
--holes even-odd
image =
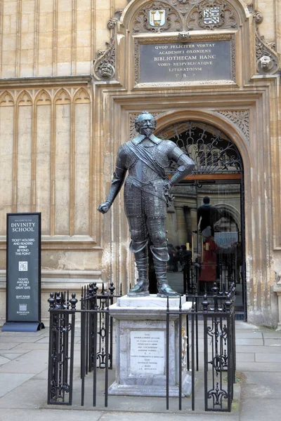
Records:
{"label": "black wrought-iron railing enclosing the statue's pedestal", "polygon": [[[115,302],[114,286],[98,293],[96,283],[81,290],[81,309],[72,293],[51,293],[50,342],[48,360],[48,403],[72,405],[75,323],[81,316],[81,406],[84,406],[85,379],[92,373],[92,405],[97,405],[97,377],[103,373],[103,405],[108,405],[108,370],[112,368],[113,321],[110,305]],[[166,338],[169,338],[170,318],[178,316],[178,409],[182,409],[182,373],[191,375],[191,409],[195,410],[196,372],[204,374],[204,410],[230,411],[235,382],[235,286],[220,292],[216,284],[211,295],[186,295],[191,312],[183,313],[166,306]],[[203,332],[203,359],[200,361],[199,330]],[[169,340],[166,339],[166,409],[169,409]],[[119,399],[122,399],[120,396]],[[174,398],[173,398],[174,399]],[[76,399],[77,400],[77,399]],[[99,403],[100,405],[100,403]]]}

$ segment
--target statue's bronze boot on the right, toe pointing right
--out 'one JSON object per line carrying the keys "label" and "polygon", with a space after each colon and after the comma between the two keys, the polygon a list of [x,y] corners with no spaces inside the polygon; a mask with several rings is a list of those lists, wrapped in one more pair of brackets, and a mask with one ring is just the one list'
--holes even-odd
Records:
{"label": "statue's bronze boot on the right, toe pointing right", "polygon": [[180,296],[174,291],[166,279],[166,262],[169,260],[168,249],[166,247],[151,247],[155,275],[157,279],[157,297],[177,298]]}

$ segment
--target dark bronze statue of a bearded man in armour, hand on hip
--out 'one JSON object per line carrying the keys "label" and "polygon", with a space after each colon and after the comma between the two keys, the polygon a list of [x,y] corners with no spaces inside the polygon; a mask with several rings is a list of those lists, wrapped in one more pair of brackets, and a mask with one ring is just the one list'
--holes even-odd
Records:
{"label": "dark bronze statue of a bearded man in armour, hand on hip", "polygon": [[[166,243],[166,212],[172,199],[170,189],[192,171],[194,162],[171,140],[157,138],[152,132],[156,128],[155,117],[141,112],[136,117],[139,135],[119,148],[116,168],[110,192],[98,210],[106,213],[112,206],[125,180],[124,206],[131,232],[130,250],[135,255],[138,269],[136,286],[129,296],[149,295],[148,292],[148,239],[152,245],[153,262],[157,278],[157,296],[177,297],[166,279],[166,262],[169,254]],[[171,161],[178,165],[171,180],[165,169]]]}

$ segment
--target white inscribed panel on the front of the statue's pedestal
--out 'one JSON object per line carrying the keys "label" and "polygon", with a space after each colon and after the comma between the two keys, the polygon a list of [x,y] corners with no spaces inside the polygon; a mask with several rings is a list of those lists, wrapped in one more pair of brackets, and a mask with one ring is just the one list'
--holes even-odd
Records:
{"label": "white inscribed panel on the front of the statue's pedestal", "polygon": [[135,330],[130,333],[130,373],[164,375],[164,331]]}

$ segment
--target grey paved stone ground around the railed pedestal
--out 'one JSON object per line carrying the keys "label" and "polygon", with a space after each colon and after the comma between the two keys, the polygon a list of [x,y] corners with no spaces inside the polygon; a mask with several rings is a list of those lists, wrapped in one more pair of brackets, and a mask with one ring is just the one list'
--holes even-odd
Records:
{"label": "grey paved stone ground around the railed pedestal", "polygon": [[[183,399],[181,412],[174,401],[171,401],[171,410],[167,412],[164,399],[116,396],[109,396],[107,410],[101,404],[96,409],[91,408],[90,404],[82,409],[78,398],[76,401],[74,399],[72,407],[47,406],[48,329],[36,333],[1,332],[0,420],[72,421],[82,418],[83,421],[180,421],[185,417],[189,421],[280,420],[281,332],[237,321],[236,338],[237,376],[242,380],[235,386],[232,412],[204,413],[199,375],[196,410],[192,413],[190,399]],[[77,362],[74,366],[77,380],[79,340],[77,331]],[[114,373],[110,375],[114,376]],[[100,379],[100,390],[102,383],[103,379]],[[102,394],[100,398],[103,399]]]}

